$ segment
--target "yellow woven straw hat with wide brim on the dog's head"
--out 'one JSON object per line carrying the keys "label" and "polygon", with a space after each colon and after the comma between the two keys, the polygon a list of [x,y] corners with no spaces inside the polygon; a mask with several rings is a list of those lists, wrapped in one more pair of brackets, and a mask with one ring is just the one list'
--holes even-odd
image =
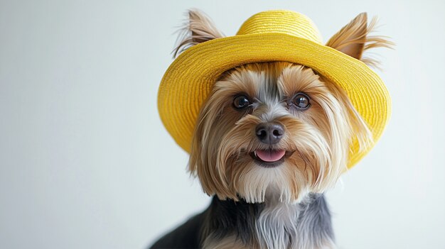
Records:
{"label": "yellow woven straw hat with wide brim on the dog's head", "polygon": [[375,145],[390,118],[391,102],[382,79],[360,60],[321,43],[312,21],[294,11],[264,11],[242,24],[237,35],[188,48],[171,63],[159,86],[163,125],[187,152],[196,118],[220,74],[252,62],[284,61],[311,67],[345,90],[372,132],[374,142],[350,146],[352,167]]}

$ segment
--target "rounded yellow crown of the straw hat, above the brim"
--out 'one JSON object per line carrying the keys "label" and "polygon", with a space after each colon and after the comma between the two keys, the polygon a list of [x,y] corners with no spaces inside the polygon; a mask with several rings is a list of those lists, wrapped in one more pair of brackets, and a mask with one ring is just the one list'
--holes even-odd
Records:
{"label": "rounded yellow crown of the straw hat, above the brim", "polygon": [[318,28],[307,16],[294,11],[263,11],[242,23],[237,35],[284,33],[321,44]]}

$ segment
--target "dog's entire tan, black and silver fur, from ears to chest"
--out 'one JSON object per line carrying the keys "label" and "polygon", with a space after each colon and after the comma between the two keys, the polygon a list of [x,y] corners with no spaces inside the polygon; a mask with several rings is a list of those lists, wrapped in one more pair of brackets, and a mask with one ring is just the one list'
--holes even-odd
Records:
{"label": "dog's entire tan, black and silver fur, from ears to chest", "polygon": [[[363,51],[391,43],[370,36],[374,27],[375,18],[368,26],[360,13],[326,45],[377,65]],[[175,56],[223,37],[199,11],[189,11],[185,32]],[[237,109],[237,96],[248,106]],[[301,96],[310,106],[299,108]],[[264,123],[282,127],[277,143],[259,139]],[[188,164],[213,201],[152,248],[335,248],[323,192],[347,169],[355,138],[360,148],[372,140],[365,121],[342,89],[311,68],[262,62],[228,70],[200,110]],[[271,164],[259,151],[285,153]]]}

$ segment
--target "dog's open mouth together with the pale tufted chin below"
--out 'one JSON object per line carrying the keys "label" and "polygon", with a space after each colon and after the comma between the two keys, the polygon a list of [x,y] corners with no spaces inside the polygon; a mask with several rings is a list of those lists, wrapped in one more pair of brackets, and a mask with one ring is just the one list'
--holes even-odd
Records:
{"label": "dog's open mouth together with the pale tufted chin below", "polygon": [[[232,175],[237,196],[247,203],[279,201],[297,203],[308,192],[304,172],[296,165],[297,151],[289,148],[254,148],[238,157]],[[241,167],[242,166],[242,167]]]}

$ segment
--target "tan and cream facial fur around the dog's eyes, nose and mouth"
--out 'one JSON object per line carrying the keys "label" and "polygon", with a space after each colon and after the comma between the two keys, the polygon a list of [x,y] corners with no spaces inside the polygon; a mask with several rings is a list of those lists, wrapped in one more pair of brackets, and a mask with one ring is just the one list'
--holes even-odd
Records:
{"label": "tan and cream facial fur around the dog's eyes, nose and mouth", "polygon": [[[189,162],[204,191],[220,199],[241,196],[262,202],[267,187],[279,183],[282,201],[291,202],[308,191],[323,192],[333,186],[346,169],[353,134],[363,146],[371,138],[344,92],[323,80],[301,65],[266,62],[243,65],[216,82],[198,117]],[[273,120],[264,119],[271,112],[270,106],[261,103],[264,96],[259,89],[264,87],[276,89],[281,101],[274,107],[281,112]],[[311,97],[310,109],[287,109],[286,99],[297,92]],[[256,106],[250,111],[235,110],[232,101],[237,94],[257,99]],[[272,147],[293,152],[277,169],[262,169],[249,155],[268,147],[254,134],[255,127],[265,121],[286,128],[282,141]]]}

